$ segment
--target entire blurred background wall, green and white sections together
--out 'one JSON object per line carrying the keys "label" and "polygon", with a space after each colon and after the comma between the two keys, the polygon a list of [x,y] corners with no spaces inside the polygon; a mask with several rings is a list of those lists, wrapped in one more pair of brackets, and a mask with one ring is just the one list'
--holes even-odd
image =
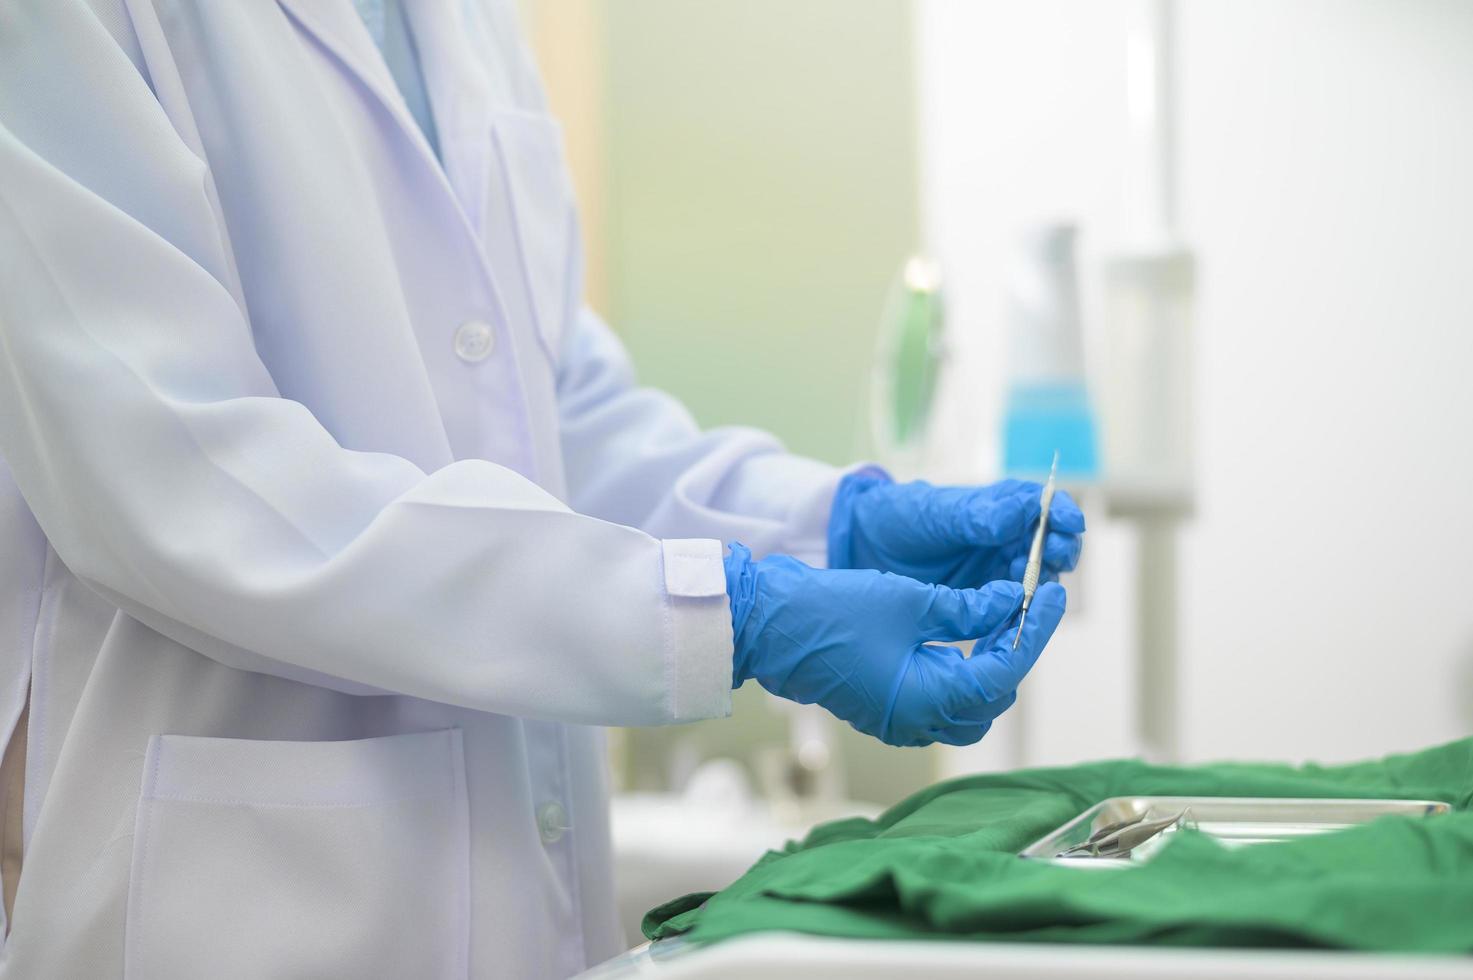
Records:
{"label": "entire blurred background wall, green and white sections together", "polygon": [[[868,451],[887,283],[929,251],[952,329],[934,470],[994,477],[1021,227],[1078,223],[1102,364],[1130,3],[524,0],[594,304],[703,423],[846,461]],[[1473,4],[1190,0],[1174,34],[1199,264],[1175,752],[1333,760],[1467,734]],[[1071,615],[1018,707],[966,750],[846,735],[851,796],[1139,749],[1134,536],[1083,497]],[[620,774],[660,788],[729,755],[760,781],[790,721],[744,690],[729,721],[627,734]]]}

